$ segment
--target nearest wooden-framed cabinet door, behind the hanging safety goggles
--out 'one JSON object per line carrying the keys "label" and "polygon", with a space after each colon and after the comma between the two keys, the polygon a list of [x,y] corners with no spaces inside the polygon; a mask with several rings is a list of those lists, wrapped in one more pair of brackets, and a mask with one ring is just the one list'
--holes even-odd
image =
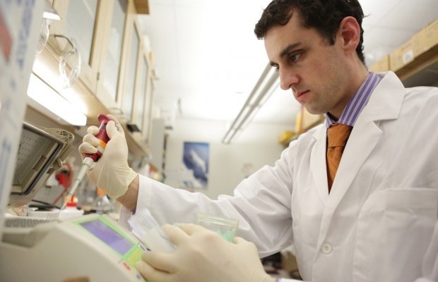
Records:
{"label": "nearest wooden-framed cabinet door, behind the hanging safety goggles", "polygon": [[[54,35],[52,48],[60,56],[69,51],[69,44],[77,44],[81,53],[81,70],[79,78],[95,93],[97,72],[102,49],[102,37],[105,32],[107,16],[105,0],[54,0],[53,7],[61,16],[54,21],[50,33]],[[61,37],[59,37],[61,35]],[[67,57],[66,74],[76,68],[76,58]]]}

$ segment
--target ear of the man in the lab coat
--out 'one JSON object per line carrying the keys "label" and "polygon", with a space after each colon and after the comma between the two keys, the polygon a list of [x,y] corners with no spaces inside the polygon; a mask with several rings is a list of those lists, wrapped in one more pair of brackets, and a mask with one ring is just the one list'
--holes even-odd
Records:
{"label": "ear of the man in the lab coat", "polygon": [[360,26],[357,20],[351,16],[345,17],[339,25],[338,39],[341,39],[342,47],[348,54],[355,52],[360,41]]}

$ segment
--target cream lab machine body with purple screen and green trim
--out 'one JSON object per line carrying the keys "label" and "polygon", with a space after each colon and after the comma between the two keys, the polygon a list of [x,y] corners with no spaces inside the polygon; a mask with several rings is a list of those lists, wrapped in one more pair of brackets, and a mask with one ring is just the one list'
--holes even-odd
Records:
{"label": "cream lab machine body with purple screen and green trim", "polygon": [[32,228],[6,228],[0,281],[145,281],[135,268],[146,250],[109,216],[88,214]]}

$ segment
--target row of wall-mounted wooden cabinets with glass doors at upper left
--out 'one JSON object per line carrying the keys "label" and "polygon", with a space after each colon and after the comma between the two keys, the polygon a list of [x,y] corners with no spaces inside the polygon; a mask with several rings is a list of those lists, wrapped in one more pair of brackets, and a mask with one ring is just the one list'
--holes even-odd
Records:
{"label": "row of wall-mounted wooden cabinets with glass doors at upper left", "polygon": [[[136,20],[136,6],[148,11],[148,1],[53,0],[52,6],[61,20],[49,26],[47,47],[36,57],[33,72],[71,104],[79,104],[87,125],[98,125],[98,114],[117,116],[130,151],[146,156],[153,63]],[[81,54],[81,71],[69,86],[60,79],[60,65],[64,60],[66,76],[73,78],[78,56],[69,53],[72,45]]]}

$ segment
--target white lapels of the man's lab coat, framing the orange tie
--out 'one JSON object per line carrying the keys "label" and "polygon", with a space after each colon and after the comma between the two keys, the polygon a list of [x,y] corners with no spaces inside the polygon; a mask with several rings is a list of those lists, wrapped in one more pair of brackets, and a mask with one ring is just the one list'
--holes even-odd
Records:
{"label": "white lapels of the man's lab coat, framing the orange tie", "polygon": [[[400,114],[406,92],[403,84],[393,72],[379,75],[384,75],[384,77],[374,89],[367,106],[357,118],[333,182],[330,197],[325,162],[326,128],[321,126],[313,135],[315,145],[312,148],[310,165],[318,194],[321,200],[326,203],[324,216],[331,216],[345,192],[350,188],[360,167],[378,144],[383,132],[376,122],[395,119]],[[329,221],[323,220],[323,222],[328,224]],[[325,229],[321,228],[321,230]]]}

